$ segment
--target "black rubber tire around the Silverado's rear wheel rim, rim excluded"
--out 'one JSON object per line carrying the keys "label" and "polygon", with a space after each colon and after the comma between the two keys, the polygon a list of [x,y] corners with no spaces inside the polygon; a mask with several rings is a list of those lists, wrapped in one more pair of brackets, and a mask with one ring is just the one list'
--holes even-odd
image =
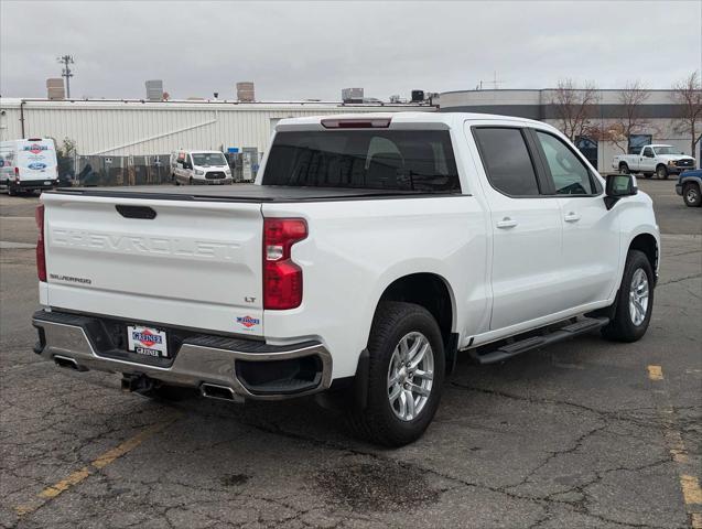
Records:
{"label": "black rubber tire around the Silverado's rear wheel rim, rim excluded", "polygon": [[[410,333],[421,333],[433,354],[433,380],[423,408],[411,420],[401,420],[388,395],[390,361],[396,347]],[[413,303],[382,302],[368,339],[367,406],[349,413],[352,428],[363,438],[386,446],[402,446],[419,439],[436,413],[445,375],[444,346],[436,320]]]}

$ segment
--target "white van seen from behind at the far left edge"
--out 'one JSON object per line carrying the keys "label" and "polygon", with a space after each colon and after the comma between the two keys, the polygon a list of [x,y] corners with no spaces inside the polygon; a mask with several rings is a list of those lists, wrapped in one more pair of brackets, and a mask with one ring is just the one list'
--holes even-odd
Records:
{"label": "white van seen from behind at the far left edge", "polygon": [[10,195],[51,190],[58,181],[56,145],[51,138],[0,142],[0,188]]}

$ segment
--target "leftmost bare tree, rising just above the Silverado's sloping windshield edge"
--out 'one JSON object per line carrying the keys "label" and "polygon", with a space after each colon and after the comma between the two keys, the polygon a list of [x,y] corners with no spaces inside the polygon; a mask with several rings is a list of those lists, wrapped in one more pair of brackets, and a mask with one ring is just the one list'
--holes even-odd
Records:
{"label": "leftmost bare tree, rising just above the Silverado's sloping windshield edge", "polygon": [[551,105],[559,121],[559,128],[571,141],[593,132],[592,119],[600,102],[597,88],[585,83],[580,88],[573,79],[561,79],[551,97]]}

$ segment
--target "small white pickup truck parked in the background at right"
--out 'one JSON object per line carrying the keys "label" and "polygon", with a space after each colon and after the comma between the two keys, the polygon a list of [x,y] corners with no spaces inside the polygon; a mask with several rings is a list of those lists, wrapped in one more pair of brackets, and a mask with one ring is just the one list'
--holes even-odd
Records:
{"label": "small white pickup truck parked in the background at right", "polygon": [[680,174],[694,169],[694,158],[683,154],[672,145],[646,145],[638,154],[617,154],[612,160],[612,168],[619,173],[641,173],[650,179],[665,180],[671,174]]}

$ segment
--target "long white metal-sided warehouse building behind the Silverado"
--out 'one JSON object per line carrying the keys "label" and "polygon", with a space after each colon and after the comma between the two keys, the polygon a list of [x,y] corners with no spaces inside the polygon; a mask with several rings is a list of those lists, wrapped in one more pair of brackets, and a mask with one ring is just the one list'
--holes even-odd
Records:
{"label": "long white metal-sided warehouse building behind the Silverado", "polygon": [[268,149],[282,118],[435,111],[426,104],[237,102],[227,100],[0,99],[0,140],[69,139],[80,155],[152,155],[176,149]]}

